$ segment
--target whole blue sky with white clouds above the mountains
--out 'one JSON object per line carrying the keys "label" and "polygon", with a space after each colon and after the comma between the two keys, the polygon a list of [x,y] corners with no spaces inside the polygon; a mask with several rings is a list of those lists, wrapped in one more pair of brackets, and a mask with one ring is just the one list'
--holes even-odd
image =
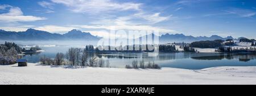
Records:
{"label": "whole blue sky with white clouds above the mountains", "polygon": [[110,29],[256,38],[256,1],[0,0],[0,29],[106,36]]}

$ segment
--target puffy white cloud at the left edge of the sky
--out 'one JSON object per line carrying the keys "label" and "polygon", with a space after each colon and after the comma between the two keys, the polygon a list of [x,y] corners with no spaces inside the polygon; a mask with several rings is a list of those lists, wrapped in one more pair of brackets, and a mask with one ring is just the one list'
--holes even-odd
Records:
{"label": "puffy white cloud at the left edge of the sky", "polygon": [[10,7],[9,12],[5,14],[0,14],[0,22],[17,22],[17,21],[37,21],[44,20],[46,18],[36,17],[36,16],[24,16],[23,12],[19,7],[13,7],[10,5],[1,5],[0,9],[5,10]]}

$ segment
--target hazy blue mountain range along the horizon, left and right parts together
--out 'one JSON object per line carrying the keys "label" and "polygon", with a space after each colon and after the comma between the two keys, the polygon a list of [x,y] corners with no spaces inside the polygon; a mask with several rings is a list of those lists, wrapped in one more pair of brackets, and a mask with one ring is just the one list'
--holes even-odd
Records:
{"label": "hazy blue mountain range along the horizon, left and right parts together", "polygon": [[[11,32],[0,29],[0,40],[84,40],[84,41],[97,41],[101,37],[93,36],[90,33],[81,32],[80,30],[73,29],[65,34],[49,33],[42,30],[27,29],[24,32]],[[244,38],[244,37],[240,37]],[[205,40],[227,40],[234,39],[232,36],[220,37],[213,35],[210,37],[200,36],[185,36],[184,34],[163,34],[159,36],[160,43],[169,42],[193,42],[193,41],[205,41]]]}

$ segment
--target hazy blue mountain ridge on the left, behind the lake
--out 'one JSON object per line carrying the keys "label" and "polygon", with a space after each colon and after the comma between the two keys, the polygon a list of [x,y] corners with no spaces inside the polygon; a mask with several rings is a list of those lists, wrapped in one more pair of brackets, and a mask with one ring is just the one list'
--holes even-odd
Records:
{"label": "hazy blue mountain ridge on the left, behind the lake", "polygon": [[97,41],[100,37],[73,29],[65,34],[49,33],[43,30],[27,29],[24,32],[0,30],[0,40],[85,40]]}

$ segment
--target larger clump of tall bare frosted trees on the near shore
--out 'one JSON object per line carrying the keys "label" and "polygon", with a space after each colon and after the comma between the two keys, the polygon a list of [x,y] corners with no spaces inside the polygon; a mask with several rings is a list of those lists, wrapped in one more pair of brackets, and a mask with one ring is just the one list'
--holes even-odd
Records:
{"label": "larger clump of tall bare frosted trees on the near shore", "polygon": [[43,56],[40,58],[40,62],[56,66],[110,67],[109,60],[98,58],[95,54],[80,48],[70,48],[66,54],[57,53],[54,59]]}

